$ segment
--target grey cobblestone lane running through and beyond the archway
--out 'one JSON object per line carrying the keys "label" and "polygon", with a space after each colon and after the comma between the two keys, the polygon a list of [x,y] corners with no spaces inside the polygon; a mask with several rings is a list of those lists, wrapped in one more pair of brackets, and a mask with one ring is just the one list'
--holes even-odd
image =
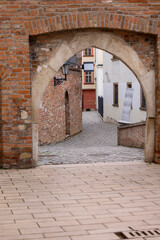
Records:
{"label": "grey cobblestone lane running through and beyond the archway", "polygon": [[117,146],[117,125],[104,123],[96,111],[83,112],[83,131],[39,147],[39,165],[144,160],[144,150]]}

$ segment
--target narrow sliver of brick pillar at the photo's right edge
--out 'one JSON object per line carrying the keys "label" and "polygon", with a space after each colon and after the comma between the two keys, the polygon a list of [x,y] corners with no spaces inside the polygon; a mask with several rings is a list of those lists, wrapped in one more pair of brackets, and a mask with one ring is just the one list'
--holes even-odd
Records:
{"label": "narrow sliver of brick pillar at the photo's right edge", "polygon": [[160,163],[160,35],[157,38],[155,162]]}

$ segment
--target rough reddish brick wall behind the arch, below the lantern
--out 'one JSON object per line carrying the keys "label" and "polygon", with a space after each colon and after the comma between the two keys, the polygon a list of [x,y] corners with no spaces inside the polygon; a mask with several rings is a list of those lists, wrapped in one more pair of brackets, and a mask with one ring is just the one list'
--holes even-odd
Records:
{"label": "rough reddish brick wall behind the arch, below the lantern", "polygon": [[[60,77],[60,75],[59,75]],[[63,75],[61,77],[64,77]],[[67,82],[54,86],[52,80],[39,111],[39,143],[55,143],[66,138],[65,94],[69,98],[70,136],[82,130],[82,81],[80,70],[69,70]]]}

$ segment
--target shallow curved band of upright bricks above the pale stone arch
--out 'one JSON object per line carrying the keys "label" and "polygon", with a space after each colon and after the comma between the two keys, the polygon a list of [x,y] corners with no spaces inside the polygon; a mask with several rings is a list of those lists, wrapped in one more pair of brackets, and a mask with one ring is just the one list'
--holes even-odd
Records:
{"label": "shallow curved band of upright bricks above the pale stone arch", "polygon": [[[65,4],[63,3],[63,5]],[[50,17],[45,16],[45,11],[39,9],[38,12],[29,10],[28,15],[34,17],[29,21],[25,21],[22,29],[30,36],[83,28],[120,29],[150,34],[159,34],[160,30],[160,24],[157,19],[148,19],[138,15],[133,17],[128,14],[123,16],[117,12],[104,12],[103,8],[99,9],[98,12],[93,10],[81,13],[69,12]],[[42,16],[42,18],[37,16]]]}

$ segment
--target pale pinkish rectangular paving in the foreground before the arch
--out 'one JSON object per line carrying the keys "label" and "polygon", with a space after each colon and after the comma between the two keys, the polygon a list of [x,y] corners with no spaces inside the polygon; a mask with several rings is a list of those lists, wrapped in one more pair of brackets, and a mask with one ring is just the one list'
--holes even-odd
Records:
{"label": "pale pinkish rectangular paving in the foreground before the arch", "polygon": [[160,239],[149,233],[160,229],[160,165],[0,170],[0,191],[0,240],[116,240],[132,230],[141,232],[130,239]]}

